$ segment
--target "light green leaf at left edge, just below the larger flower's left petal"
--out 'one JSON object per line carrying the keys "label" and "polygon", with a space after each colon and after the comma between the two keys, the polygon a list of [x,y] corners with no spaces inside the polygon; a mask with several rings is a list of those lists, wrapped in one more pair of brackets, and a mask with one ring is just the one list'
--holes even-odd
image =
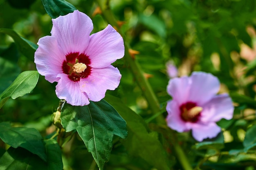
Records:
{"label": "light green leaf at left edge, just below the larger flower's left petal", "polygon": [[25,71],[13,81],[13,83],[0,95],[0,109],[9,97],[16,99],[30,93],[37,84],[39,73],[37,71]]}

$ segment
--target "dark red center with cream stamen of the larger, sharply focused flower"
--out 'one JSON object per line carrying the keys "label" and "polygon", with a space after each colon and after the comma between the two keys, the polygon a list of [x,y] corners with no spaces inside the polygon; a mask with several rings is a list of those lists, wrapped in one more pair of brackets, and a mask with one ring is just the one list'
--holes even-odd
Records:
{"label": "dark red center with cream stamen of the larger, sharply focused flower", "polygon": [[80,81],[80,78],[86,78],[91,74],[90,63],[89,57],[84,53],[71,52],[66,55],[66,60],[62,63],[62,71],[68,75],[70,80]]}

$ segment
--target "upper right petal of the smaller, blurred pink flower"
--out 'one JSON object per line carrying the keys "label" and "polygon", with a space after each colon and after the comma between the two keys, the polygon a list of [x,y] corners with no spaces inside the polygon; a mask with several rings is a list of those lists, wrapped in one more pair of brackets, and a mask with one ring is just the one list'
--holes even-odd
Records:
{"label": "upper right petal of the smaller, blurred pink flower", "polygon": [[193,72],[189,78],[191,85],[187,101],[202,105],[211,100],[219,91],[220,82],[216,76],[210,73]]}

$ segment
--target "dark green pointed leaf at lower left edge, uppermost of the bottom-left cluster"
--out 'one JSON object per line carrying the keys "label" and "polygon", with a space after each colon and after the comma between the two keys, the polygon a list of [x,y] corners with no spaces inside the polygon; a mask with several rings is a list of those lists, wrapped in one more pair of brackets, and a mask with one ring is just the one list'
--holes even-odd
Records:
{"label": "dark green pointed leaf at lower left edge, uppermost of the bottom-left cluster", "polygon": [[0,138],[13,148],[22,147],[47,161],[43,137],[33,128],[11,127],[7,122],[0,123]]}

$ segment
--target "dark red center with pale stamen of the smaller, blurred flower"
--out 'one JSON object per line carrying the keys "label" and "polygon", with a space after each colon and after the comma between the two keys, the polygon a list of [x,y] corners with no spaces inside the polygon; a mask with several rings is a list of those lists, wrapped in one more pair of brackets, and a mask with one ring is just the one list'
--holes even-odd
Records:
{"label": "dark red center with pale stamen of the smaller, blurred flower", "polygon": [[185,122],[197,122],[201,115],[202,107],[194,102],[186,102],[180,106],[180,117]]}

